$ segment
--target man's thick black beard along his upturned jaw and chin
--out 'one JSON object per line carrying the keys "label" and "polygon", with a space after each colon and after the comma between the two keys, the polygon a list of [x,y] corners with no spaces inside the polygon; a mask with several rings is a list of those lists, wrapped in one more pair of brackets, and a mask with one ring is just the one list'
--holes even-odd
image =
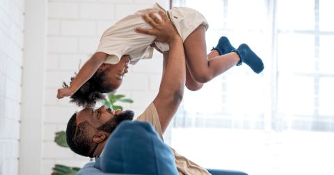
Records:
{"label": "man's thick black beard along his upturned jaw and chin", "polygon": [[134,118],[134,112],[132,110],[125,110],[119,115],[114,115],[109,121],[100,126],[98,129],[112,133],[113,130],[123,121],[132,120]]}

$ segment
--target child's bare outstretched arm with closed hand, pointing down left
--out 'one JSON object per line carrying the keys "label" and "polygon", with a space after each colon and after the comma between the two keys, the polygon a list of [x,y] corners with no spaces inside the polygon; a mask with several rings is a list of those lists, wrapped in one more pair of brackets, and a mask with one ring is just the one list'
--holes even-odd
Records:
{"label": "child's bare outstretched arm with closed hand, pointing down left", "polygon": [[90,58],[84,64],[84,66],[81,67],[70,87],[58,89],[57,98],[61,99],[63,97],[69,97],[74,94],[74,92],[77,92],[81,85],[84,85],[84,83],[86,83],[86,81],[88,81],[89,78],[92,77],[97,69],[99,69],[99,67],[104,63],[104,60],[106,60],[106,56],[106,53],[103,52],[94,53],[92,58]]}

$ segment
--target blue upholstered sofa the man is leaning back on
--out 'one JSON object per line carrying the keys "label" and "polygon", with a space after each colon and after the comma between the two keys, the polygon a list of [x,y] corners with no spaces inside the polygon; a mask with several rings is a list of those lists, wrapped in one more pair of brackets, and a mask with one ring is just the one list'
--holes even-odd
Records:
{"label": "blue upholstered sofa the man is leaning back on", "polygon": [[[208,169],[213,175],[246,175],[243,172]],[[79,175],[178,174],[175,157],[147,122],[122,122],[106,142],[95,162],[87,163]]]}

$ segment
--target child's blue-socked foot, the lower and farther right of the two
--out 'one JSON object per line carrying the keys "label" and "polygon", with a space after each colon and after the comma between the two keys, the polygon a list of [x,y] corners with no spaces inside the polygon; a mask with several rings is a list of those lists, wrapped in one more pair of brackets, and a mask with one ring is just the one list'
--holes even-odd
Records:
{"label": "child's blue-socked foot, the lower and farther right of the two", "polygon": [[258,57],[247,44],[241,44],[235,51],[240,57],[240,62],[237,65],[241,65],[241,62],[246,63],[255,73],[259,74],[262,72],[264,65],[261,58]]}

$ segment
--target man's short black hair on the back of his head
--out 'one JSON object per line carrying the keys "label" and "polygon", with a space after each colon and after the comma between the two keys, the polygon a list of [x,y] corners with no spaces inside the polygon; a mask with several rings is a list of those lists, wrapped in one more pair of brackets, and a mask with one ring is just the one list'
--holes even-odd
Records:
{"label": "man's short black hair on the back of his head", "polygon": [[76,118],[77,113],[74,113],[67,123],[66,142],[68,147],[70,147],[74,153],[93,158],[94,143],[87,130],[89,123],[87,121],[81,122],[81,124],[77,126]]}

